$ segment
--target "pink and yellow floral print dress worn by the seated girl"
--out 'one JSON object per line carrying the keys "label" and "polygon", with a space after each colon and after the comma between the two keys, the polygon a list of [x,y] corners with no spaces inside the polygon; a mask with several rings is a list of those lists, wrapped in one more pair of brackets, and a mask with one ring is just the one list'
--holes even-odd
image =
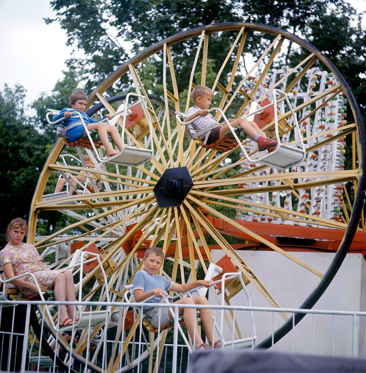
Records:
{"label": "pink and yellow floral print dress worn by the seated girl", "polygon": [[[65,269],[44,270],[38,263],[38,260],[42,259],[37,249],[31,244],[23,244],[20,246],[6,245],[3,250],[0,251],[1,267],[5,263],[10,263],[15,276],[22,275],[26,272],[34,272],[38,284],[43,286],[45,290],[50,290],[53,279],[58,273],[64,272]],[[28,282],[34,283],[33,278],[30,277]],[[34,293],[30,289],[24,288],[23,294],[30,296]]]}

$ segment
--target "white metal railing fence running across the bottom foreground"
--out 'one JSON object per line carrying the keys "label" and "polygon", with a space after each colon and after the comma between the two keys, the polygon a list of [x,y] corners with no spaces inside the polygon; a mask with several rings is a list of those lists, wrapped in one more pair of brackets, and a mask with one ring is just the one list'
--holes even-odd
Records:
{"label": "white metal railing fence running across the bottom foreground", "polygon": [[[0,302],[0,370],[5,370],[7,372],[16,371],[19,370],[20,372],[25,372],[29,369],[29,361],[28,361],[28,355],[29,351],[27,351],[27,343],[28,343],[28,334],[30,329],[30,315],[31,315],[31,307],[33,305],[58,305],[58,302],[51,302],[51,301],[32,301],[32,302],[24,302],[24,301],[1,301]],[[127,308],[135,309],[139,312],[142,311],[142,307],[148,305],[146,303],[119,303],[119,302],[64,302],[63,304],[66,305],[74,305],[75,307],[82,306],[82,307],[89,307],[91,309],[95,309],[98,306],[102,307],[117,307],[114,313],[122,312],[122,314],[126,313]],[[22,319],[22,322],[20,323],[19,319],[17,319],[17,310],[20,309],[18,305],[25,305],[25,314],[24,319]],[[178,319],[178,306],[174,304],[155,304],[156,307],[172,307],[175,312],[175,320]],[[311,315],[311,325],[312,327],[306,328],[306,333],[309,333],[307,336],[308,339],[311,340],[311,352],[314,354],[316,352],[317,354],[319,351],[316,350],[315,342],[316,338],[316,317],[319,317],[320,315],[327,315],[330,323],[332,324],[332,335],[331,335],[331,341],[327,340],[325,341],[326,344],[332,345],[332,354],[335,354],[335,346],[340,343],[341,339],[344,339],[344,333],[342,333],[341,336],[338,336],[336,333],[336,322],[335,318],[341,317],[342,320],[345,320],[345,317],[351,317],[352,322],[351,323],[345,323],[344,321],[341,322],[342,326],[350,324],[349,328],[350,330],[347,330],[347,334],[350,337],[351,340],[351,355],[353,357],[357,357],[357,348],[358,346],[358,338],[359,334],[362,332],[360,331],[360,325],[364,327],[366,325],[366,312],[359,312],[359,311],[327,311],[327,310],[300,310],[300,309],[292,309],[292,308],[268,308],[268,307],[244,307],[244,306],[223,306],[223,305],[200,305],[200,308],[210,308],[213,313],[214,319],[219,319],[220,314],[224,311],[231,311],[233,315],[233,319],[240,320],[243,319],[244,314],[252,313],[254,314],[254,319],[257,320],[257,316],[259,314],[266,314],[267,319],[272,319],[272,329],[268,330],[267,335],[264,337],[268,337],[268,335],[271,335],[272,333],[272,341],[274,340],[275,331],[277,329],[277,324],[275,322],[275,316],[280,313],[286,313],[288,316],[293,316],[295,314],[307,314]],[[180,304],[179,308],[196,308],[194,305],[188,305],[188,304]],[[91,314],[91,313],[90,313]],[[46,317],[47,313],[43,313],[43,318]],[[294,320],[294,319],[293,319]],[[327,319],[327,323],[329,323],[329,320]],[[44,319],[39,320],[41,325],[42,333],[46,332],[46,327],[44,323]],[[107,320],[108,322],[108,320]],[[323,321],[322,321],[323,323]],[[19,324],[21,324],[22,330],[19,330]],[[339,323],[338,323],[339,324]],[[58,325],[58,323],[56,323]],[[124,324],[123,324],[124,325]],[[162,362],[164,365],[164,372],[184,372],[187,365],[189,364],[189,354],[187,353],[187,347],[186,345],[179,342],[179,333],[178,333],[178,322],[174,322],[174,332],[173,332],[173,343],[166,343],[165,344],[165,357],[163,353]],[[300,324],[301,325],[301,322]],[[123,326],[124,327],[124,326]],[[118,342],[117,346],[117,352],[121,351],[123,343],[124,343],[124,333],[123,333],[123,327],[122,327],[122,333],[121,333],[121,340]],[[294,352],[295,351],[295,334],[297,332],[297,327],[295,327],[295,323],[293,321],[292,329],[288,333],[289,338],[292,338],[292,348],[290,347],[289,351],[286,352]],[[249,328],[250,329],[250,328]],[[121,361],[118,364],[118,367],[116,369],[116,372],[124,372],[124,370],[127,370],[128,364],[131,366],[131,361],[134,361],[134,372],[140,373],[140,372],[147,372],[146,365],[144,366],[142,363],[143,361],[140,361],[140,357],[143,356],[143,353],[146,352],[146,348],[149,348],[149,341],[146,341],[146,337],[142,336],[142,320],[140,320],[140,332],[139,335],[136,335],[133,340],[130,342],[130,345],[133,345],[132,352],[133,356],[126,354],[122,358],[121,354]],[[226,335],[234,335],[234,328],[232,328],[232,331],[228,332],[226,331]],[[58,330],[56,330],[56,341],[54,341],[57,351],[58,348]],[[74,330],[72,330],[74,332]],[[84,330],[84,333],[88,336],[88,345],[89,350],[87,349],[87,353],[90,354],[91,350],[91,344],[95,344],[98,346],[99,344],[102,345],[103,348],[100,348],[99,356],[93,361],[93,364],[100,367],[100,370],[102,372],[108,371],[107,365],[109,361],[108,354],[110,353],[109,345],[113,344],[115,341],[113,338],[110,338],[108,336],[108,333],[106,330],[102,330],[97,334],[97,336],[93,336],[93,338],[90,337],[90,330]],[[160,331],[158,331],[157,339],[159,340]],[[254,333],[254,331],[253,331]],[[301,331],[301,333],[304,333],[304,330]],[[223,334],[221,334],[223,335]],[[301,335],[301,339],[304,335]],[[144,339],[145,338],[145,342]],[[254,335],[253,335],[254,338]],[[226,337],[227,340],[229,340],[228,337]],[[261,337],[258,337],[258,341],[261,341]],[[323,343],[323,342],[322,342]],[[42,341],[41,341],[42,345]],[[230,345],[230,348],[234,348],[235,343],[232,343]],[[274,350],[275,346],[272,343],[272,346],[270,347],[270,350]],[[167,354],[167,348],[169,348],[169,354]],[[254,346],[251,346],[251,349],[254,349]],[[85,354],[84,354],[85,355]],[[172,356],[173,358],[169,358]],[[184,361],[185,359],[185,361]],[[148,358],[146,359],[149,360]],[[28,364],[28,365],[27,365]],[[78,370],[80,372],[87,372],[87,369],[90,368],[90,366],[85,367],[83,364],[75,364],[75,359],[69,358],[68,359],[68,367],[70,369]],[[41,365],[37,364],[37,371]],[[49,368],[50,372],[56,372],[57,366],[55,361],[53,362],[52,366]]]}

